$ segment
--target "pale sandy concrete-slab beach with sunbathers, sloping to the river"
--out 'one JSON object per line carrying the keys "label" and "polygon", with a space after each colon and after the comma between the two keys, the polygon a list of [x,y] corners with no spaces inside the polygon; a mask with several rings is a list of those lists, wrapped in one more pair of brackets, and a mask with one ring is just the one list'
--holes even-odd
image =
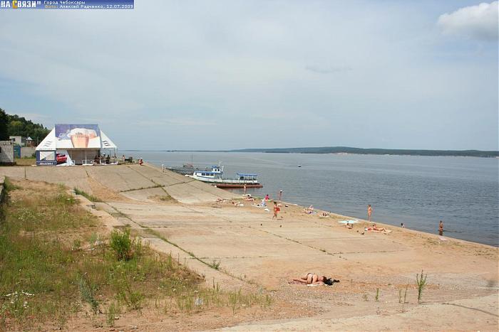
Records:
{"label": "pale sandy concrete-slab beach with sunbathers, sloping to the river", "polygon": [[[352,218],[307,215],[285,202],[272,220],[272,206],[265,211],[234,193],[148,164],[2,167],[0,175],[80,188],[103,200],[91,208],[103,223],[130,225],[207,285],[264,289],[275,300],[265,315],[244,311],[230,319],[199,315],[167,322],[145,311],[124,318],[123,326],[128,319],[140,331],[498,330],[497,247],[390,225],[378,224],[389,233],[365,231],[366,220],[348,229],[339,221]],[[173,200],[161,200],[165,193]],[[212,262],[220,268],[211,268]],[[421,271],[427,285],[418,304]],[[307,272],[340,282],[288,284]],[[86,329],[78,322],[72,328]]]}

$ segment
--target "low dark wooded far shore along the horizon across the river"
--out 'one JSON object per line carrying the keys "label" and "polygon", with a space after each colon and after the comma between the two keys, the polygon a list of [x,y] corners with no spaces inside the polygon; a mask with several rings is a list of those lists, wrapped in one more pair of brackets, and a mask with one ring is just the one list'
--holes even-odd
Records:
{"label": "low dark wooded far shore along the horizon across the river", "polygon": [[237,150],[122,150],[155,152],[260,152],[265,154],[369,154],[388,156],[469,156],[478,158],[498,158],[499,151],[480,150],[422,150],[422,149],[361,149],[348,146],[324,146],[307,148],[278,149],[237,149]]}

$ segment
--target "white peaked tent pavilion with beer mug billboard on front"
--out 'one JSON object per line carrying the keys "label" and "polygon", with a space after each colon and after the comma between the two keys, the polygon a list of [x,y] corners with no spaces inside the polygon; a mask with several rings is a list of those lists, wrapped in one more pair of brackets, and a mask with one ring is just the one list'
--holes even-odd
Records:
{"label": "white peaked tent pavilion with beer mug billboard on front", "polygon": [[115,164],[116,149],[97,124],[56,124],[36,146],[36,165]]}

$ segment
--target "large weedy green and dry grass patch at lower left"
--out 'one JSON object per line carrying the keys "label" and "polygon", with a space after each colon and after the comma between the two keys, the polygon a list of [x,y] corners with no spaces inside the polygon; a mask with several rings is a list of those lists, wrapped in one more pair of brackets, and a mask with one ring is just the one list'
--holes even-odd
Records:
{"label": "large weedy green and dry grass patch at lower left", "polygon": [[118,316],[151,305],[170,316],[272,304],[263,291],[204,287],[202,277],[126,228],[114,233],[113,245],[113,236],[99,235],[98,220],[63,188],[24,183],[2,206],[0,331],[65,328],[76,316],[88,328],[113,326]]}

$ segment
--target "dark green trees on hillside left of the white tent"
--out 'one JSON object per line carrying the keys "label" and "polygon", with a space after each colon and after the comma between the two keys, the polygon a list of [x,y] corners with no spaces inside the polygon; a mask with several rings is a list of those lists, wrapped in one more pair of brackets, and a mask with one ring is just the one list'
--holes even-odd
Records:
{"label": "dark green trees on hillside left of the white tent", "polygon": [[0,108],[0,141],[9,141],[9,136],[29,136],[38,144],[49,132],[43,124],[36,124],[16,114],[7,114]]}

